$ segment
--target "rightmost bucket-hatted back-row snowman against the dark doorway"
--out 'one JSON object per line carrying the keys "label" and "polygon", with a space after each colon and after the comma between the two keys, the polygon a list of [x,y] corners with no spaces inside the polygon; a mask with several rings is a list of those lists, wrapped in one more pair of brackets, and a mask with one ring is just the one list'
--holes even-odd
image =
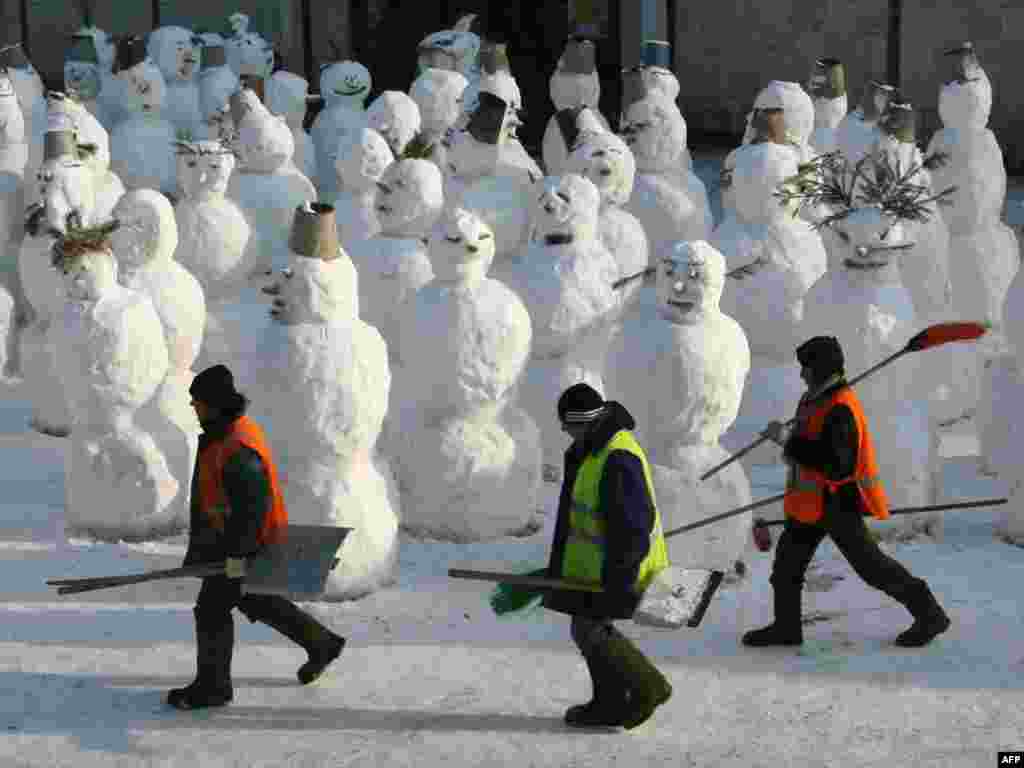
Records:
{"label": "rightmost bucket-hatted back-row snowman against the dark doorway", "polygon": [[608,121],[597,106],[601,98],[601,81],[597,76],[596,54],[593,40],[569,37],[555,71],[551,73],[548,88],[555,114],[548,120],[542,142],[544,168],[549,176],[567,170],[566,161],[572,150],[571,134],[581,108],[587,108],[602,127],[608,128]]}

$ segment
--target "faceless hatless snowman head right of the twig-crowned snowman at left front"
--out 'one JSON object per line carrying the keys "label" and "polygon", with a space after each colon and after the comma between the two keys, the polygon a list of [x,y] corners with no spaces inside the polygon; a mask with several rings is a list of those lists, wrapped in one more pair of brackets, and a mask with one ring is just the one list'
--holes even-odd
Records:
{"label": "faceless hatless snowman head right of the twig-crowned snowman at left front", "polygon": [[178,226],[171,202],[156,189],[132,189],[114,206],[120,226],[111,236],[118,263],[137,269],[170,259],[178,246]]}

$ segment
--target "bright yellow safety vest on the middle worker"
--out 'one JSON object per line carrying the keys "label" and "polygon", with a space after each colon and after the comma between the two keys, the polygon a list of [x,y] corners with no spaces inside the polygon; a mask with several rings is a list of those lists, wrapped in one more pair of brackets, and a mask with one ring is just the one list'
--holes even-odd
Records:
{"label": "bright yellow safety vest on the middle worker", "polygon": [[597,454],[584,459],[572,484],[569,506],[569,529],[562,556],[562,578],[585,582],[601,583],[601,568],[605,553],[605,510],[601,506],[601,475],[604,463],[612,451],[633,454],[643,466],[644,483],[647,495],[654,505],[654,525],[650,534],[650,548],[640,563],[634,588],[642,592],[650,581],[669,566],[669,553],[662,530],[662,517],[654,501],[654,483],[650,476],[647,457],[633,434],[625,429],[616,432]]}

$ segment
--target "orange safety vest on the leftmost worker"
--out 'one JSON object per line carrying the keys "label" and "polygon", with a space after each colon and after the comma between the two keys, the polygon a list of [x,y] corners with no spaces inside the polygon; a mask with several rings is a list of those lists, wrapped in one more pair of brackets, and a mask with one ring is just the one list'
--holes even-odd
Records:
{"label": "orange safety vest on the leftmost worker", "polygon": [[210,524],[223,532],[224,519],[231,514],[224,494],[224,465],[245,445],[259,454],[270,480],[270,509],[263,515],[258,540],[262,544],[284,541],[288,527],[288,510],[285,509],[285,497],[278,483],[278,470],[270,456],[270,447],[266,435],[260,426],[248,416],[234,420],[227,429],[227,434],[219,440],[212,441],[203,449],[199,457],[199,502],[200,510],[206,515]]}

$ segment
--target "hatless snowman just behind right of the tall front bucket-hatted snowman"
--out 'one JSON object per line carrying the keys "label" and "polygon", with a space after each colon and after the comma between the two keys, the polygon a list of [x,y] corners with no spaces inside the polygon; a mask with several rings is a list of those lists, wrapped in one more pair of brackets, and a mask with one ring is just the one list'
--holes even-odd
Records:
{"label": "hatless snowman just behind right of the tall front bucket-hatted snowman", "polygon": [[342,137],[338,147],[340,193],[335,202],[338,239],[346,251],[380,232],[377,220],[377,182],[394,162],[384,137],[362,127]]}

